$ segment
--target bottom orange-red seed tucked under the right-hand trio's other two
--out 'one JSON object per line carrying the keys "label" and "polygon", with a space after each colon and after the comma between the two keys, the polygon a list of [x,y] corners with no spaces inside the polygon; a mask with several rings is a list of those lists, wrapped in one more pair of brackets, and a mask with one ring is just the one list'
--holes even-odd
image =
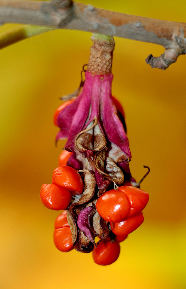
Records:
{"label": "bottom orange-red seed tucked under the right-hand trio's other two", "polygon": [[[117,236],[128,235],[140,227],[143,221],[144,217],[142,212],[140,212],[136,216],[125,219],[125,221],[114,223],[112,232]],[[113,227],[112,224],[110,224],[110,226],[111,228]]]}

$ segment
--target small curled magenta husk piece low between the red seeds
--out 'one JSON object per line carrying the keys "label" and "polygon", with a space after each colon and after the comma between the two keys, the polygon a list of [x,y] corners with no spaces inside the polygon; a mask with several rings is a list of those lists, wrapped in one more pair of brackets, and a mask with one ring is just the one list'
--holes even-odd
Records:
{"label": "small curled magenta husk piece low between the red seeds", "polygon": [[94,243],[94,239],[91,232],[90,217],[94,211],[95,209],[93,207],[84,208],[78,215],[77,221],[78,227],[82,230],[84,235],[91,240],[92,243]]}

